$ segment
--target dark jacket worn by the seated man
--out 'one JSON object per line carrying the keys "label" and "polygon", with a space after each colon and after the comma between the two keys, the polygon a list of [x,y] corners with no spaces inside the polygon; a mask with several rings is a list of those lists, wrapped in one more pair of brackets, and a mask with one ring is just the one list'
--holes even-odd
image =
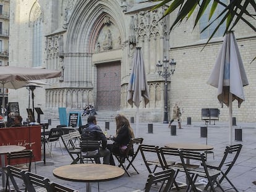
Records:
{"label": "dark jacket worn by the seated man", "polygon": [[[83,127],[81,139],[82,141],[101,141],[102,148],[106,148],[107,138],[101,128],[94,123],[89,123],[87,126]],[[94,151],[94,149],[90,151]]]}

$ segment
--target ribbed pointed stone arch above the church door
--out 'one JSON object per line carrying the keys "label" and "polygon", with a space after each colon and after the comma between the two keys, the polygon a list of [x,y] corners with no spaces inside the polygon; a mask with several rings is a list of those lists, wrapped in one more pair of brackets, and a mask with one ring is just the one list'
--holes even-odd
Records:
{"label": "ribbed pointed stone arch above the church door", "polygon": [[[120,31],[121,41],[128,36],[124,20],[124,14],[116,1],[80,1],[76,4],[73,14],[70,16],[67,29],[66,52],[93,53],[98,32],[106,22],[114,23]],[[74,40],[76,40],[74,42]],[[69,46],[70,45],[70,46]]]}

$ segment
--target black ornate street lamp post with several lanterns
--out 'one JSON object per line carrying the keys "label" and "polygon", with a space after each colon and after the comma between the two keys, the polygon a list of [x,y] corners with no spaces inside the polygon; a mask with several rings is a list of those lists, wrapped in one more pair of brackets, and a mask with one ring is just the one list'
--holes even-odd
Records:
{"label": "black ornate street lamp post with several lanterns", "polygon": [[[170,65],[170,70],[169,66]],[[167,88],[168,88],[168,81],[167,78],[173,75],[176,67],[176,62],[174,59],[169,60],[167,59],[166,56],[164,56],[163,63],[161,64],[160,61],[156,64],[156,67],[158,67],[158,75],[164,78],[164,120],[163,123],[169,123],[168,121],[168,93],[167,93]]]}

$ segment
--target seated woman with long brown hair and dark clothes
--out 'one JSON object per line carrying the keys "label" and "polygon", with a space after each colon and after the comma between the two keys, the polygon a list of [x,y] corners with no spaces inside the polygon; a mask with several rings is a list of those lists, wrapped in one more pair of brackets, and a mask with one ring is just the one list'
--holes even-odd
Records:
{"label": "seated woman with long brown hair and dark clothes", "polygon": [[[124,115],[116,115],[116,136],[111,136],[114,141],[111,152],[114,154],[123,154],[131,138],[134,138],[134,131],[130,127],[129,120]],[[114,165],[113,156],[110,157],[110,164]]]}

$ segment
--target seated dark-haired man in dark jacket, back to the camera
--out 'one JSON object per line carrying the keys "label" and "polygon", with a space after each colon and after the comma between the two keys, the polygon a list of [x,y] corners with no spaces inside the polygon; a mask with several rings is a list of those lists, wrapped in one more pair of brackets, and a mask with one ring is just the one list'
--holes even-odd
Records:
{"label": "seated dark-haired man in dark jacket, back to the camera", "polygon": [[[96,117],[89,116],[87,119],[87,125],[82,128],[82,141],[101,141],[101,148],[98,151],[100,157],[103,157],[103,164],[109,164],[110,151],[106,148],[107,138],[100,126],[97,125]],[[91,151],[95,151],[92,149]],[[100,162],[96,162],[100,164]]]}

